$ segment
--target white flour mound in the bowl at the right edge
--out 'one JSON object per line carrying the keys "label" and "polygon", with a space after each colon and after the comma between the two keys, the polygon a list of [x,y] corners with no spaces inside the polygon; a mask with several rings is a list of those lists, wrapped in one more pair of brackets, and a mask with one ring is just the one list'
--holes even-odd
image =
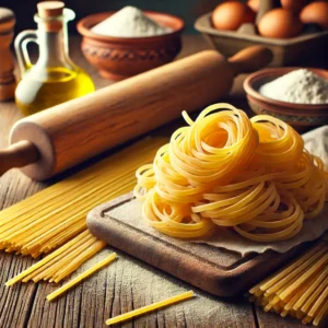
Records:
{"label": "white flour mound in the bowl at the right edge", "polygon": [[300,69],[263,84],[259,93],[288,103],[327,104],[328,81],[306,69]]}

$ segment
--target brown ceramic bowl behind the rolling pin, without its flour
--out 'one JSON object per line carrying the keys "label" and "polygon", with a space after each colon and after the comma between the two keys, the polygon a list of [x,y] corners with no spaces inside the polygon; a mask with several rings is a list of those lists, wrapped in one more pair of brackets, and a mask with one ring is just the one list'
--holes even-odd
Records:
{"label": "brown ceramic bowl behind the rolling pin, without its flour", "polygon": [[173,32],[149,37],[109,37],[95,34],[93,26],[115,12],[84,17],[78,23],[82,34],[82,51],[91,65],[106,79],[122,80],[172,61],[181,49],[185,23],[179,17],[145,11],[144,13]]}

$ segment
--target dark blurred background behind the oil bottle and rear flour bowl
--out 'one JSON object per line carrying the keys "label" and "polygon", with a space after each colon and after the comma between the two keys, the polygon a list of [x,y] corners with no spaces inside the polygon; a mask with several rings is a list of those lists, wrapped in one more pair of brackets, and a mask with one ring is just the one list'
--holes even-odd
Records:
{"label": "dark blurred background behind the oil bottle and rear flour bowl", "polygon": [[[7,7],[16,14],[15,33],[26,28],[36,28],[33,20],[37,0],[0,0],[0,7]],[[66,0],[77,19],[69,24],[71,33],[77,33],[75,24],[80,19],[102,11],[119,10],[133,5],[143,10],[154,10],[180,16],[186,22],[187,34],[196,34],[194,23],[198,16],[213,10],[223,0]]]}

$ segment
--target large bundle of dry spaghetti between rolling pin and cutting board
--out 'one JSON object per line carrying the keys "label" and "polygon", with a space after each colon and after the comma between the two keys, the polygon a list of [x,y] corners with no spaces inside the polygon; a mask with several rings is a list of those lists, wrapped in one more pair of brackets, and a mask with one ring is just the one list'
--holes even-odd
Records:
{"label": "large bundle of dry spaghetti between rolling pin and cutting board", "polygon": [[160,144],[161,139],[143,140],[3,210],[0,249],[38,257],[70,242],[86,230],[91,209],[133,188],[137,167],[150,162]]}

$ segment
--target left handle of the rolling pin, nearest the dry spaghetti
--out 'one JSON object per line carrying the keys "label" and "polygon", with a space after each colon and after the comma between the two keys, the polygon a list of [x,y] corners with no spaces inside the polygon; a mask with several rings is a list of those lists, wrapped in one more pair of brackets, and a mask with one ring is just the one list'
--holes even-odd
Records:
{"label": "left handle of the rolling pin, nearest the dry spaghetti", "polygon": [[23,167],[38,160],[37,148],[27,140],[13,143],[0,150],[0,176],[13,167]]}

